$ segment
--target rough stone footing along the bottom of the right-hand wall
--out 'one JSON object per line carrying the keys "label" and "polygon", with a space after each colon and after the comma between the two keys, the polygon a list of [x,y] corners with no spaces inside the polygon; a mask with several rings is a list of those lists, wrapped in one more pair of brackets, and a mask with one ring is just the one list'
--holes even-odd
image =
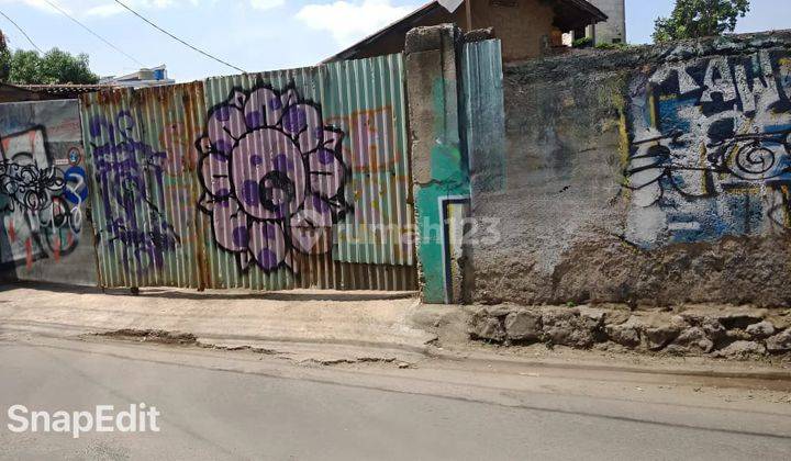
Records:
{"label": "rough stone footing along the bottom of the right-hand wall", "polygon": [[791,310],[500,305],[477,307],[468,333],[474,340],[506,346],[544,342],[589,349],[612,344],[644,352],[747,359],[791,355]]}

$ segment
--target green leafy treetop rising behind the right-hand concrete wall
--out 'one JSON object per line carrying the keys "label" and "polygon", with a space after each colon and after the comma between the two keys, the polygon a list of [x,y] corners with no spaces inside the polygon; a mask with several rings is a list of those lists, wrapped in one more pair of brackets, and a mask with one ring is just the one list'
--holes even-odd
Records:
{"label": "green leafy treetop rising behind the right-hand concrete wall", "polygon": [[676,0],[669,18],[656,20],[654,42],[700,38],[733,32],[749,11],[749,0]]}

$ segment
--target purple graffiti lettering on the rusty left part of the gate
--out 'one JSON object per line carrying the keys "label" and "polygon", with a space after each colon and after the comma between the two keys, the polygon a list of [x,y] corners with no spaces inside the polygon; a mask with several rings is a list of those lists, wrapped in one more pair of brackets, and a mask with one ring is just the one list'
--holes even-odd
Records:
{"label": "purple graffiti lettering on the rusty left part of the gate", "polygon": [[143,273],[161,268],[181,238],[160,211],[167,153],[138,140],[135,126],[126,110],[114,120],[97,115],[89,122],[88,144],[104,213],[99,236],[119,245],[123,263]]}

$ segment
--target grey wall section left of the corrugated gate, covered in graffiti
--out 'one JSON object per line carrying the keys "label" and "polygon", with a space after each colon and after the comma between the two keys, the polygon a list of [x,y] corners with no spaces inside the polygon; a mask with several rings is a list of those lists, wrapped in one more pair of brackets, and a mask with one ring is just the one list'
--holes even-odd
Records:
{"label": "grey wall section left of the corrugated gate, covered in graffiti", "polygon": [[96,284],[76,100],[0,104],[0,273]]}

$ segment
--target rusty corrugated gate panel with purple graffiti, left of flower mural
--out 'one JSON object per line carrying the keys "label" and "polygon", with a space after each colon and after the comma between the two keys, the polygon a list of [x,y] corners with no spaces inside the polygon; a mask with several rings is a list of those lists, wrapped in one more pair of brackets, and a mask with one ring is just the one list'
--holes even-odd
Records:
{"label": "rusty corrugated gate panel with purple graffiti, left of flower mural", "polygon": [[81,98],[103,286],[203,288],[200,82]]}

